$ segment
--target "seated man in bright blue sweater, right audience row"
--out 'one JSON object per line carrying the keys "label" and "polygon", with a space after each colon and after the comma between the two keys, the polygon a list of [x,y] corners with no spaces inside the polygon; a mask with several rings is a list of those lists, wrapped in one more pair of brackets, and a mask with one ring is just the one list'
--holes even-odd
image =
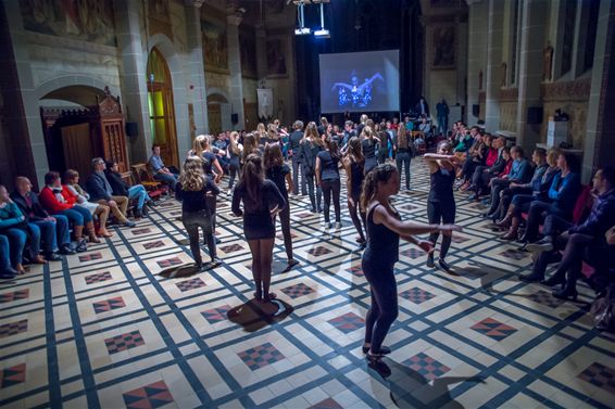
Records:
{"label": "seated man in bright blue sweater, right audience row", "polygon": [[534,243],[538,239],[538,228],[547,215],[555,215],[566,220],[573,217],[577,196],[580,191],[580,178],[577,161],[572,154],[561,153],[557,157],[561,172],[553,177],[549,189],[551,202],[534,201],[529,206],[525,234],[519,239],[524,243]]}

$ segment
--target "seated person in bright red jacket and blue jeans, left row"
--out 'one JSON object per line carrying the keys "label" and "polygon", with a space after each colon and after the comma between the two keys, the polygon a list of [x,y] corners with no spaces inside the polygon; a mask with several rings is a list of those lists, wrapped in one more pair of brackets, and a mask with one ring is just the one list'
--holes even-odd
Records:
{"label": "seated person in bright red jacket and blue jeans, left row", "polygon": [[86,239],[84,239],[84,228],[86,228],[90,242],[100,243],[96,237],[93,221],[90,210],[85,207],[75,206],[77,196],[62,186],[62,179],[57,171],[45,175],[45,188],[38,195],[40,204],[52,216],[63,215],[73,223],[73,233],[77,241],[77,253],[87,252]]}

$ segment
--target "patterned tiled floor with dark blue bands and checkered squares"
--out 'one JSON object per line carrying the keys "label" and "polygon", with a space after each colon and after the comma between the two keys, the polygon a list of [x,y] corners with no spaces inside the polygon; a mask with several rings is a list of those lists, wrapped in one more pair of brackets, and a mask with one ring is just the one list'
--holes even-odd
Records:
{"label": "patterned tiled floor with dark blue bands and checkered squares", "polygon": [[[426,221],[422,159],[412,174],[394,203]],[[272,309],[251,301],[241,220],[218,202],[224,264],[198,276],[168,200],[86,254],[0,283],[0,407],[615,406],[615,337],[592,330],[590,291],[565,303],[519,282],[529,255],[499,241],[465,196],[455,274],[402,244],[388,379],[361,353],[369,293],[350,218],[327,230],[308,197],[291,199],[300,265],[285,271],[278,240]]]}

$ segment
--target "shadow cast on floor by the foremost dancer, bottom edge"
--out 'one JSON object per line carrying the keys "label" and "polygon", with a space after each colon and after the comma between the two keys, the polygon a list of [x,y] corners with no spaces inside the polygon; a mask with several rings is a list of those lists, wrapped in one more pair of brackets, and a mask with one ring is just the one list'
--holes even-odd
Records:
{"label": "shadow cast on floor by the foremost dancer, bottom edge", "polygon": [[[385,379],[391,400],[398,408],[404,409],[463,409],[450,395],[449,385],[461,382],[485,383],[481,376],[442,376],[430,384],[429,380],[417,371],[389,358],[384,358],[378,369],[371,367],[369,372],[378,373]],[[378,381],[372,376],[372,382]]]}

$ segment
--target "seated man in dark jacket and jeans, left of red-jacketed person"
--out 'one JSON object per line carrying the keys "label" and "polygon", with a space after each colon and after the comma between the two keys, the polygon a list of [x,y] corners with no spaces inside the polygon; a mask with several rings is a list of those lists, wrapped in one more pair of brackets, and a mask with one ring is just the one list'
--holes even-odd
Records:
{"label": "seated man in dark jacket and jeans, left of red-jacketed person", "polygon": [[[11,199],[25,216],[30,231],[42,239],[45,258],[48,261],[61,260],[62,258],[55,254],[58,250],[62,254],[75,254],[71,246],[71,232],[66,216],[50,216],[38,202],[38,196],[32,191],[28,178],[22,176],[16,178],[15,186],[17,189],[11,193]],[[36,248],[33,252],[38,253]]]}

